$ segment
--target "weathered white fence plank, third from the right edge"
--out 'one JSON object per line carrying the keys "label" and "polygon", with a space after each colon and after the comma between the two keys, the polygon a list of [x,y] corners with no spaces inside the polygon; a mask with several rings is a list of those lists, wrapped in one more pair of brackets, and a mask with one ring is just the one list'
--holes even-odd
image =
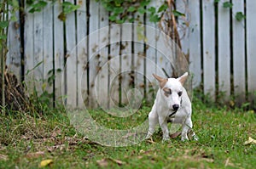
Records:
{"label": "weathered white fence plank, third from the right edge", "polygon": [[218,2],[218,92],[230,98],[230,8]]}

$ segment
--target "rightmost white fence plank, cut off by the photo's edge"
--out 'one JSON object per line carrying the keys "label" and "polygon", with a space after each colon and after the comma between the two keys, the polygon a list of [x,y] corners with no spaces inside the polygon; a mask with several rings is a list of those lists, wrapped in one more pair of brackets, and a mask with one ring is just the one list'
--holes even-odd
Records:
{"label": "rightmost white fence plank, cut off by the photo's edge", "polygon": [[247,1],[246,3],[247,8],[247,90],[249,94],[249,99],[255,99],[256,98],[256,1]]}

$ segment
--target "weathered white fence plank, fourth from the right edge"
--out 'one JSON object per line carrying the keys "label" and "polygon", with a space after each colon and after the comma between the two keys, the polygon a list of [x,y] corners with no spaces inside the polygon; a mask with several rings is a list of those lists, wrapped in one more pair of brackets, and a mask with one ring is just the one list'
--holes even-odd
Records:
{"label": "weathered white fence plank, fourth from the right edge", "polygon": [[213,1],[202,1],[203,25],[203,82],[204,93],[209,93],[212,99],[215,94],[215,14]]}

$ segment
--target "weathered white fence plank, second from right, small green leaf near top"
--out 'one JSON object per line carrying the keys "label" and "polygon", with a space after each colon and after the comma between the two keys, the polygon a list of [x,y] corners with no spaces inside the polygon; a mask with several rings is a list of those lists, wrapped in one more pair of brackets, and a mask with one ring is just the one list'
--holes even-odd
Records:
{"label": "weathered white fence plank, second from right, small green leaf near top", "polygon": [[237,12],[244,14],[242,1],[236,1],[232,8],[234,94],[236,103],[241,104],[246,100],[245,22],[236,20]]}

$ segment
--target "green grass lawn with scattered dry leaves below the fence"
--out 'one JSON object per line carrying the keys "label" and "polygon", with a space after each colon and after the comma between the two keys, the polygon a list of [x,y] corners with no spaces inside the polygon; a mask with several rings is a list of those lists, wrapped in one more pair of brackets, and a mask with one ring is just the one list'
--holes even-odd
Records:
{"label": "green grass lawn with scattered dry leaves below the fence", "polygon": [[[150,108],[137,115],[116,118],[102,110],[91,110],[97,122],[124,129],[147,118]],[[127,147],[105,147],[76,132],[63,109],[44,115],[0,116],[0,168],[38,168],[43,160],[53,160],[49,168],[253,168],[256,145],[244,145],[256,138],[253,111],[214,108],[193,103],[194,130],[199,141],[174,138],[161,142],[160,129],[154,144],[143,141]]]}

